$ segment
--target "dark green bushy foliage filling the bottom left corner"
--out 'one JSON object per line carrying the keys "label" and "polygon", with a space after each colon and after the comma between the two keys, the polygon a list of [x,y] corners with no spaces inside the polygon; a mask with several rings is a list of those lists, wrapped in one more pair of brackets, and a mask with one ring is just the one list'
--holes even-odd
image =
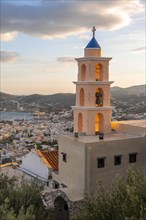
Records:
{"label": "dark green bushy foliage filling the bottom left corner", "polygon": [[45,210],[41,192],[36,181],[22,179],[16,187],[16,179],[0,175],[0,219],[1,220],[49,220],[51,212]]}

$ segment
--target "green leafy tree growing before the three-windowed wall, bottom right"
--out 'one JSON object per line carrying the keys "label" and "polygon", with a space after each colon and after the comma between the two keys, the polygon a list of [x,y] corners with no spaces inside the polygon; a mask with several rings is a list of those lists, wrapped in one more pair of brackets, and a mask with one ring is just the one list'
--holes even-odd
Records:
{"label": "green leafy tree growing before the three-windowed wall, bottom right", "polygon": [[99,182],[96,195],[86,195],[76,220],[146,220],[146,177],[129,169],[127,179],[116,177],[109,189]]}

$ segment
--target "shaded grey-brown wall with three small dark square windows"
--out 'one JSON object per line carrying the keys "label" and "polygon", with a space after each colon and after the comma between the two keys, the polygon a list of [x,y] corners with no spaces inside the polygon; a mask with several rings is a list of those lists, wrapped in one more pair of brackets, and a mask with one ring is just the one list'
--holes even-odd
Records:
{"label": "shaded grey-brown wall with three small dark square windows", "polygon": [[[108,187],[116,174],[125,176],[129,166],[144,170],[144,146],[145,137],[86,144],[86,191],[96,191],[100,179]],[[129,153],[134,152],[137,162],[129,163]],[[114,165],[115,155],[122,155],[121,165]],[[98,157],[105,157],[104,168],[97,168]]]}

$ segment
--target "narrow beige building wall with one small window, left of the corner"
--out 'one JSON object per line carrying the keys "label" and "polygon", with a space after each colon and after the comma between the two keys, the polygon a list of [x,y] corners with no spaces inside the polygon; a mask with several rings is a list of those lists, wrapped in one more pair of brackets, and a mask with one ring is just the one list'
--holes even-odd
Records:
{"label": "narrow beige building wall with one small window, left of the corner", "polygon": [[[62,160],[66,153],[67,162]],[[59,137],[59,182],[85,192],[85,147],[69,136]]]}

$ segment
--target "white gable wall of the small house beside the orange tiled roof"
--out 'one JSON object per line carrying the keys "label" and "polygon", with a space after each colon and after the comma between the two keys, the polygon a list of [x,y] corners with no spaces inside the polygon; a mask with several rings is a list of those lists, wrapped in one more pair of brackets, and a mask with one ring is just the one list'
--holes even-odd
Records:
{"label": "white gable wall of the small house beside the orange tiled roof", "polygon": [[48,167],[45,166],[40,157],[34,151],[31,151],[22,157],[21,168],[45,178],[46,180],[48,180],[50,174]]}

